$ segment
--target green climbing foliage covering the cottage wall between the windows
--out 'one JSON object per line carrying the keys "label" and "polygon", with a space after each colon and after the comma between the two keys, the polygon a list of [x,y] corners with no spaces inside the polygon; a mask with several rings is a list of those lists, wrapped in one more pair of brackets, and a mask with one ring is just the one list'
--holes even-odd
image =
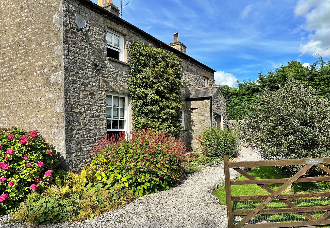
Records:
{"label": "green climbing foliage covering the cottage wall between the windows", "polygon": [[132,98],[133,128],[179,135],[181,62],[169,51],[131,41],[127,89]]}

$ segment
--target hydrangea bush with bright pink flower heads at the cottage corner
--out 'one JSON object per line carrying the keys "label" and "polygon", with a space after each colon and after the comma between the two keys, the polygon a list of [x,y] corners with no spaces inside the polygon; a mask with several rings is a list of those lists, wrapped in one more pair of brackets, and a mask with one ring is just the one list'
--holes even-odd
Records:
{"label": "hydrangea bush with bright pink flower heads at the cottage corner", "polygon": [[31,191],[40,192],[49,183],[58,164],[50,151],[37,131],[0,129],[0,214],[15,211]]}

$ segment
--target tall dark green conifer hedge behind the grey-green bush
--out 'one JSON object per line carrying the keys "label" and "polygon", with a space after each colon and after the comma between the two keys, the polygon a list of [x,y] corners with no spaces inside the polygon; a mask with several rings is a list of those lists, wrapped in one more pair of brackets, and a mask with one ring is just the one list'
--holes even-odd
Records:
{"label": "tall dark green conifer hedge behind the grey-green bush", "polygon": [[224,86],[221,89],[227,100],[228,120],[242,120],[245,114],[255,114],[251,107],[254,104],[261,104],[258,98],[261,90],[269,88],[270,91],[277,91],[287,84],[288,79],[301,82],[308,82],[314,89],[314,95],[319,98],[330,97],[330,61],[318,58],[310,67],[304,67],[297,61],[291,61],[286,66],[282,64],[277,69],[271,69],[266,74],[259,72],[256,81],[237,82],[237,88]]}

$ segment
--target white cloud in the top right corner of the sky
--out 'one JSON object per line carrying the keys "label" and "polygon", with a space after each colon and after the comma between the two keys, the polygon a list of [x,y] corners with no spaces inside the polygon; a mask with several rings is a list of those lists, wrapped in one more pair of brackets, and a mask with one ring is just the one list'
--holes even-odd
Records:
{"label": "white cloud in the top right corner of the sky", "polygon": [[[305,17],[308,42],[300,44],[301,55],[305,53],[317,54],[330,47],[330,0],[299,0],[294,10],[295,16]],[[323,51],[323,56],[330,55],[330,48]]]}

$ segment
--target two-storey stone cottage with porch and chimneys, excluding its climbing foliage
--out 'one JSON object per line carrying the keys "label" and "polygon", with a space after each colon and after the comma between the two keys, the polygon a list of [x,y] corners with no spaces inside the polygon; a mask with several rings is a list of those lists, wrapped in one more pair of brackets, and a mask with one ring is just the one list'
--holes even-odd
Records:
{"label": "two-storey stone cottage with porch and chimneys, excluding its climbing foliage", "polygon": [[[138,40],[182,59],[180,136],[190,149],[206,128],[226,127],[214,70],[118,17],[112,0],[5,0],[0,15],[0,127],[38,130],[66,168],[82,166],[96,140],[132,128],[127,50]],[[89,30],[79,29],[81,15]],[[102,67],[102,68],[101,68]],[[99,70],[99,68],[101,68]]]}

